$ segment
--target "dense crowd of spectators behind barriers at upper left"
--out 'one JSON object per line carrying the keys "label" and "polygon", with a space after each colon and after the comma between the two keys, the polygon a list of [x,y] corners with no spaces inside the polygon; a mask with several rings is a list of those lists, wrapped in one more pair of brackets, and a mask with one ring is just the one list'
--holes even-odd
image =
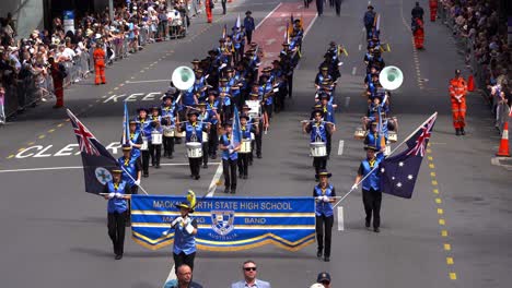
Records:
{"label": "dense crowd of spectators behind barriers at upper left", "polygon": [[[18,93],[18,110],[21,112],[28,100],[45,100],[46,96],[51,96],[49,58],[65,63],[66,68],[79,65],[78,73],[68,73],[72,82],[78,82],[93,68],[90,55],[96,44],[103,46],[106,62],[112,64],[141,50],[146,44],[184,37],[190,17],[200,12],[199,1],[175,0],[170,7],[166,3],[165,0],[124,2],[115,8],[112,20],[108,9],[84,13],[75,20],[74,32],[65,31],[62,20],[56,17],[51,27],[34,29],[26,38],[16,35],[10,13],[0,17],[0,87],[5,89],[5,95]],[[23,91],[27,81],[34,82],[39,94],[37,97],[27,99]],[[9,100],[5,96],[4,104],[12,106]]]}

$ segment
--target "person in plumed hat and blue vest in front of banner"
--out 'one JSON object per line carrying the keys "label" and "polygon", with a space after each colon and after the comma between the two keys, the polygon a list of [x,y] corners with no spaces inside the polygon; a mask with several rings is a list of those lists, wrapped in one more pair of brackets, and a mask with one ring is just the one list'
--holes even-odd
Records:
{"label": "person in plumed hat and blue vest in front of banner", "polygon": [[194,205],[190,201],[176,204],[181,216],[171,224],[174,229],[173,257],[175,267],[187,264],[194,269],[194,259],[196,257],[196,235],[197,220],[190,217],[194,213]]}

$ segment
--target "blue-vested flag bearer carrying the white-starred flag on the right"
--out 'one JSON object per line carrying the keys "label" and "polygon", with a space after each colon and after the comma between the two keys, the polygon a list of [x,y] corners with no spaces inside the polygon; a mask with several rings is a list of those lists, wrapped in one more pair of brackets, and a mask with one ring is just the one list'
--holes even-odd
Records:
{"label": "blue-vested flag bearer carrying the white-starred flag on the right", "polygon": [[362,181],[363,205],[366,214],[364,226],[370,228],[373,214],[373,231],[380,232],[382,192],[379,164],[381,160],[375,156],[377,152],[375,146],[366,145],[364,149],[366,151],[366,158],[359,166],[352,190],[358,189],[361,180],[365,177]]}

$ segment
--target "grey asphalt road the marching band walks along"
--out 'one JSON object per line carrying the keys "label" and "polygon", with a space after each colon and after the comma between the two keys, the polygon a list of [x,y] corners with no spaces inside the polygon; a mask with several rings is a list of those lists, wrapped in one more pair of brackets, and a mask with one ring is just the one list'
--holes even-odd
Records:
{"label": "grey asphalt road the marching band walks along", "polygon": [[[420,2],[427,8],[427,1]],[[119,156],[115,142],[123,100],[129,98],[130,111],[159,104],[172,71],[193,58],[202,58],[217,45],[224,23],[231,25],[246,10],[259,22],[277,4],[235,0],[228,15],[216,15],[214,24],[195,20],[187,38],[148,46],[116,63],[107,70],[107,85],[94,86],[92,79],[73,85],[66,91],[66,105]],[[361,193],[349,195],[341,204],[344,221],[335,223],[329,263],[315,257],[315,245],[294,253],[274,247],[199,252],[197,281],[205,287],[229,287],[242,277],[241,263],[253,259],[260,278],[274,287],[309,287],[319,271],[331,273],[333,287],[510,287],[512,180],[510,171],[490,163],[499,139],[489,109],[478,94],[470,94],[467,135],[454,135],[447,81],[456,68],[464,69],[463,57],[439,22],[427,23],[427,49],[415,51],[408,27],[411,5],[386,0],[379,1],[375,9],[383,16],[381,38],[392,47],[384,53],[385,61],[405,74],[405,83],[392,100],[392,111],[400,122],[399,137],[439,112],[414,197],[384,195],[377,235],[363,226]],[[344,44],[349,57],[344,59],[337,88],[338,131],[333,136],[328,168],[338,194],[350,189],[364,157],[362,143],[352,134],[365,111],[365,99],[360,96],[365,7],[366,1],[345,0],[341,17],[327,8],[316,19],[304,39],[289,109],[274,118],[264,140],[264,158],[249,167],[249,179],[238,181],[237,195],[311,194],[314,169],[299,121],[313,105],[313,79],[330,40]],[[114,261],[106,233],[106,203],[83,192],[81,160],[72,155],[77,147],[68,146],[75,144],[75,137],[65,111],[56,111],[51,105],[31,109],[0,129],[2,287],[161,287],[172,268],[171,248],[149,251],[127,238],[125,257]],[[186,189],[202,194],[217,170],[217,165],[210,165],[201,170],[199,181],[190,180],[183,145],[174,159],[163,163],[167,166],[151,169],[150,178],[142,182],[152,194],[183,194]],[[35,169],[51,167],[68,168]],[[338,230],[341,224],[345,229]]]}

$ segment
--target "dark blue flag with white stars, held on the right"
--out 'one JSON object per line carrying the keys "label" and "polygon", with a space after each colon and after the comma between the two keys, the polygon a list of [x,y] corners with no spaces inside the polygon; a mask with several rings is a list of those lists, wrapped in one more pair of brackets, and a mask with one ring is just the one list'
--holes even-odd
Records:
{"label": "dark blue flag with white stars, held on the right", "polygon": [[405,141],[407,149],[396,156],[386,157],[381,163],[382,192],[405,199],[412,196],[421,160],[437,118],[438,113],[432,115]]}

